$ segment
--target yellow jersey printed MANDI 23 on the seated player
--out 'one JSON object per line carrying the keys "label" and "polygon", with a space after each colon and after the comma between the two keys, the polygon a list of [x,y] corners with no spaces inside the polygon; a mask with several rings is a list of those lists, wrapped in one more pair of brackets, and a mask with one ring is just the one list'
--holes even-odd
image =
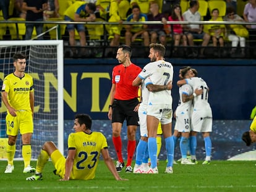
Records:
{"label": "yellow jersey printed MANDI 23 on the seated player", "polygon": [[93,179],[100,160],[101,149],[108,148],[105,136],[100,132],[92,132],[90,134],[82,131],[70,133],[67,143],[69,149],[76,149],[70,179]]}

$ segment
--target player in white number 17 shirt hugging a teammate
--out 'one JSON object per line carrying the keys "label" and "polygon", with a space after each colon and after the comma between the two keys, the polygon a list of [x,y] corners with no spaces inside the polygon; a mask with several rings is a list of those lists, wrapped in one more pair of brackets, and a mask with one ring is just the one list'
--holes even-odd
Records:
{"label": "player in white number 17 shirt hugging a teammate", "polygon": [[211,161],[211,139],[210,139],[210,132],[212,131],[212,112],[210,104],[208,103],[208,93],[209,88],[207,86],[207,83],[202,79],[198,77],[193,77],[192,70],[189,72],[189,77],[184,80],[177,81],[177,85],[181,86],[184,84],[189,84],[192,86],[193,90],[195,89],[202,89],[203,93],[199,96],[196,96],[194,98],[194,107],[191,117],[191,123],[192,123],[192,136],[191,136],[191,142],[194,146],[191,150],[191,159],[192,161],[196,160],[195,157],[195,149],[197,147],[197,133],[202,132],[203,140],[205,141],[205,152],[206,157],[203,164],[210,164]]}

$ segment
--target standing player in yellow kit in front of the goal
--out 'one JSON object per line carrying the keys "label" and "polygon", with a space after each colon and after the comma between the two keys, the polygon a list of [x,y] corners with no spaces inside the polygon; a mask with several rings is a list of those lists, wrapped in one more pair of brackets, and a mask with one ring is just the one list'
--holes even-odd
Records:
{"label": "standing player in yellow kit in front of the goal", "polygon": [[25,73],[26,56],[22,53],[14,54],[14,72],[4,78],[2,84],[2,102],[7,108],[6,127],[8,135],[7,167],[4,173],[14,170],[15,143],[17,135],[22,135],[22,157],[24,161],[23,173],[35,172],[30,166],[32,155],[31,138],[33,133],[34,92],[33,79]]}

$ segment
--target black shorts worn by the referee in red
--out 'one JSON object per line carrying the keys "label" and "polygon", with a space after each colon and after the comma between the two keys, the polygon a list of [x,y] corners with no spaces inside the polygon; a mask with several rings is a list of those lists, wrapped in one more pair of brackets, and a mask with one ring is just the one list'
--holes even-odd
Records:
{"label": "black shorts worn by the referee in red", "polygon": [[135,106],[139,104],[137,98],[130,100],[117,100],[114,99],[112,104],[112,123],[119,122],[124,123],[126,119],[127,126],[139,125],[138,112],[134,111]]}

